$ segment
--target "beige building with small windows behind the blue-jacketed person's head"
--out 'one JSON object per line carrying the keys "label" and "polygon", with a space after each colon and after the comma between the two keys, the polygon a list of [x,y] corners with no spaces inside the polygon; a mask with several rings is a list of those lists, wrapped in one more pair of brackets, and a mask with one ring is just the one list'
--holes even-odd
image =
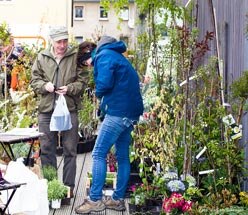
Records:
{"label": "beige building with small windows behind the blue-jacketed person's head", "polygon": [[79,41],[95,40],[108,34],[132,45],[135,42],[135,16],[133,1],[117,15],[112,7],[106,12],[100,0],[74,0],[71,31]]}

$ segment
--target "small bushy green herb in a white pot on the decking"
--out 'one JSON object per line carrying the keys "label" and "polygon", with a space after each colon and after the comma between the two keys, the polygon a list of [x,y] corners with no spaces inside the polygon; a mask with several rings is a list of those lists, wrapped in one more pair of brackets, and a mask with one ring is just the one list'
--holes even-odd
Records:
{"label": "small bushy green herb in a white pot on the decking", "polygon": [[60,208],[61,199],[67,194],[67,186],[54,178],[48,182],[48,200],[51,201],[52,208]]}

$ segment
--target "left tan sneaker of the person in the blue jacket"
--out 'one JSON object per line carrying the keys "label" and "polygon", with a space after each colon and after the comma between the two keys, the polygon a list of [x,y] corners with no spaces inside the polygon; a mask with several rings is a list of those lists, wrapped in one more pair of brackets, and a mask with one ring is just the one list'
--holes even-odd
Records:
{"label": "left tan sneaker of the person in the blue jacket", "polygon": [[77,214],[88,214],[91,212],[99,212],[105,210],[105,205],[102,200],[96,202],[90,199],[85,199],[83,203],[75,208]]}

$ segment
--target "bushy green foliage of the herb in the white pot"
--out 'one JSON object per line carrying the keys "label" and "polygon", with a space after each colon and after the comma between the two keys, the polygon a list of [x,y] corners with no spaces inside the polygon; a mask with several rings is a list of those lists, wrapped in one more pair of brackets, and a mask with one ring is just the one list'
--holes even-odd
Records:
{"label": "bushy green foliage of the herb in the white pot", "polygon": [[48,182],[47,190],[48,200],[52,201],[56,199],[63,199],[67,194],[68,188],[58,179],[53,179]]}

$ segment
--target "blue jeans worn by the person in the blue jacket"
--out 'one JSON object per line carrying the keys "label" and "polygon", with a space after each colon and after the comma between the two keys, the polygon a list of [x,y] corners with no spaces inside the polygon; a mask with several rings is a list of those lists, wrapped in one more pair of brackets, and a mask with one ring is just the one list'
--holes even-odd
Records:
{"label": "blue jeans worn by the person in the blue jacket", "polygon": [[113,198],[115,200],[124,198],[130,176],[129,145],[132,130],[131,120],[110,115],[105,116],[92,152],[91,200],[102,199],[102,189],[107,171],[107,154],[113,145],[115,145],[118,164],[117,184]]}

